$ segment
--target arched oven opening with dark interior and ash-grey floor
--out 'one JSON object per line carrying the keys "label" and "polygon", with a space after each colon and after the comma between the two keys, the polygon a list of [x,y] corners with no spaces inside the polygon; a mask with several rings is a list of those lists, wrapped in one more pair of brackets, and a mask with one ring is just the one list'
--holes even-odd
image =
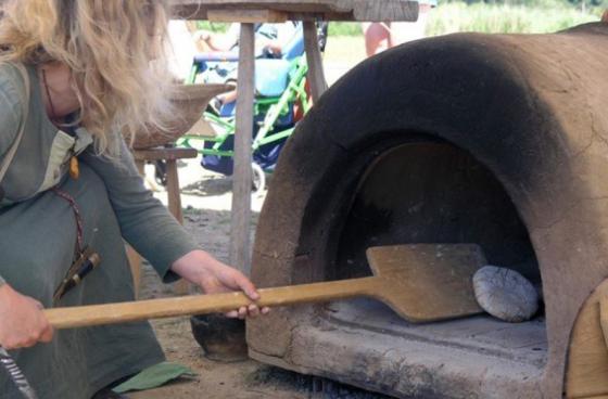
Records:
{"label": "arched oven opening with dark interior and ash-grey floor", "polygon": [[[473,243],[483,249],[487,265],[515,269],[540,289],[539,265],[516,206],[486,167],[447,142],[405,143],[384,151],[369,164],[350,206],[342,209],[329,229],[333,239],[325,252],[326,280],[370,275],[368,247]],[[490,353],[494,361],[528,364],[537,375],[546,362],[542,306],[523,323],[481,314],[413,324],[388,306],[360,298],[319,310],[319,317],[331,323],[395,339],[395,348],[405,345],[400,339],[457,348],[464,352],[454,358],[456,362]],[[473,358],[467,360],[467,352]]]}

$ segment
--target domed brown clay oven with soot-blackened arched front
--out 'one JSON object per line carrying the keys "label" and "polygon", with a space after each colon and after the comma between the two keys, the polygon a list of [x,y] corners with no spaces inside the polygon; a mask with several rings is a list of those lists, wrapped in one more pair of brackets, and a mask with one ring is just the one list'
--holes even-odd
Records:
{"label": "domed brown clay oven with soot-blackened arched front", "polygon": [[608,25],[452,35],[368,60],[286,146],[261,286],[369,273],[365,249],[477,243],[544,311],[422,325],[367,299],[250,322],[253,358],[407,398],[559,398],[577,316],[608,275]]}

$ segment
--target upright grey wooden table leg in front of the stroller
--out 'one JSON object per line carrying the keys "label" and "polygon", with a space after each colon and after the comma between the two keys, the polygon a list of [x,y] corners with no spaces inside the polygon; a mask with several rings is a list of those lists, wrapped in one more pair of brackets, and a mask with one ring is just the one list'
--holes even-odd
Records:
{"label": "upright grey wooden table leg in front of the stroller", "polygon": [[239,80],[237,86],[237,129],[235,133],[235,173],[232,177],[230,262],[248,275],[251,270],[251,146],[253,142],[253,101],[255,89],[254,46],[253,24],[241,24]]}

